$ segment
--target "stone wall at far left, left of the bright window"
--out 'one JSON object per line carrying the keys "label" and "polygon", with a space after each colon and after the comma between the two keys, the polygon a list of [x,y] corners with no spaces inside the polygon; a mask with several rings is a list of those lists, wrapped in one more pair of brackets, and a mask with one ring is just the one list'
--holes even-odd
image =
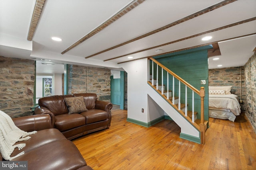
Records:
{"label": "stone wall at far left, left of the bright window", "polygon": [[32,115],[35,61],[0,56],[0,110],[10,117]]}

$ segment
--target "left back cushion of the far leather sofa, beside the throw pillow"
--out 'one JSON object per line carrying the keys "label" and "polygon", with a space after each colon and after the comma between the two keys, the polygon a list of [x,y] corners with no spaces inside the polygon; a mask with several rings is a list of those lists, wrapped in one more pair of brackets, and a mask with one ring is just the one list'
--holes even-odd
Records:
{"label": "left back cushion of the far leather sofa, beside the throw pillow", "polygon": [[72,95],[55,95],[55,96],[47,96],[44,98],[40,98],[38,100],[38,105],[40,107],[46,107],[54,115],[61,115],[68,113],[68,107],[64,101],[64,98],[73,97]]}

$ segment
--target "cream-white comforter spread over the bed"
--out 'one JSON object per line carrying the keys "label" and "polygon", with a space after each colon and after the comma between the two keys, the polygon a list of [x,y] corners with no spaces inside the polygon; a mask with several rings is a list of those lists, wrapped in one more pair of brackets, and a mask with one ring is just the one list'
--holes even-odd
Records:
{"label": "cream-white comforter spread over the bed", "polygon": [[241,106],[238,96],[235,94],[209,95],[209,109],[232,111],[234,115],[240,115]]}

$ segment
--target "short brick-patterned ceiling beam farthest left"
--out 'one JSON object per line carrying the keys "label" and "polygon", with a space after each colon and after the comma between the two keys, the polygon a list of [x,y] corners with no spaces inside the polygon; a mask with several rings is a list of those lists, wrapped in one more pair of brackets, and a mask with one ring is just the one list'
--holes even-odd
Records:
{"label": "short brick-patterned ceiling beam farthest left", "polygon": [[30,27],[28,31],[28,41],[32,41],[32,38],[34,37],[34,33],[36,31],[36,26],[38,24],[39,18],[41,16],[42,9],[44,7],[45,0],[36,0],[34,12],[31,18]]}

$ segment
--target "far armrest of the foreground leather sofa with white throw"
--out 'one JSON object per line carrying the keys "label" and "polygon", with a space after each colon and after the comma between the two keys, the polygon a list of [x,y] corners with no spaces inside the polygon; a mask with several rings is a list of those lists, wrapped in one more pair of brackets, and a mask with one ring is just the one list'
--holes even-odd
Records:
{"label": "far armrest of the foreground leather sofa with white throw", "polygon": [[48,114],[16,117],[12,120],[18,128],[26,132],[52,128],[51,117]]}

